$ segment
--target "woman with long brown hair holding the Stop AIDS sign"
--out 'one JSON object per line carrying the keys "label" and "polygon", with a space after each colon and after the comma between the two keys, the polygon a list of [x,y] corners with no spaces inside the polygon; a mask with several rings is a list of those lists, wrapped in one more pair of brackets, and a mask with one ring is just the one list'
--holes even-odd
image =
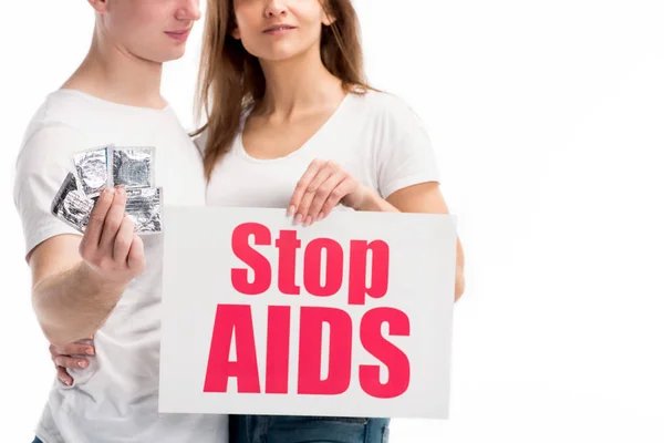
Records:
{"label": "woman with long brown hair holding the Stop AIDS sign", "polygon": [[[364,82],[351,0],[209,0],[197,132],[207,202],[447,214],[421,121]],[[457,241],[455,299],[464,290]],[[237,415],[231,442],[385,442],[387,419]]]}

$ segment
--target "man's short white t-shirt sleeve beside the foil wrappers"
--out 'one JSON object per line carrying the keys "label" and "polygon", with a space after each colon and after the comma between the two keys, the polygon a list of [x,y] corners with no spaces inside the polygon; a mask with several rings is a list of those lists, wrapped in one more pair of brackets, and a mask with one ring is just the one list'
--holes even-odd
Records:
{"label": "man's short white t-shirt sleeve beside the foil wrappers", "polygon": [[73,154],[85,148],[76,130],[63,124],[41,126],[25,140],[17,159],[13,193],[25,256],[51,237],[81,235],[51,213],[51,204],[66,174],[74,173]]}

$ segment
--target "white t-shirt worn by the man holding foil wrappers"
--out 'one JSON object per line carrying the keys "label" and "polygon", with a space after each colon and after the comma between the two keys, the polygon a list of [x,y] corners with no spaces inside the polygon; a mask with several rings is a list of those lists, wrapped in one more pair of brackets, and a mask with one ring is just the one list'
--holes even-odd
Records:
{"label": "white t-shirt worn by the man holding foil wrappers", "polygon": [[[56,91],[31,121],[17,162],[14,202],[25,254],[53,236],[77,234],[50,213],[51,203],[74,172],[72,156],[110,143],[155,146],[165,205],[205,204],[200,154],[169,106],[149,110]],[[72,387],[54,380],[37,427],[44,443],[228,441],[225,415],[157,412],[163,236],[143,240],[145,272],[95,333],[96,357],[89,368],[71,371]]]}

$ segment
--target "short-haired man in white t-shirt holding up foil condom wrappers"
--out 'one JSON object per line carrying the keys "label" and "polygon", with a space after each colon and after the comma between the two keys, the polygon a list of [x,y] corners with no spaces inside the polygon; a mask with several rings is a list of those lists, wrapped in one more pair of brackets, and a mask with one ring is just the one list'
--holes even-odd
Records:
{"label": "short-haired man in white t-shirt holding up foil condom wrappers", "polygon": [[184,54],[198,0],[89,3],[90,52],[34,115],[17,162],[38,321],[55,346],[94,334],[95,348],[72,383],[54,383],[35,441],[225,442],[226,416],[157,412],[162,235],[134,234],[122,188],[101,195],[83,236],[50,213],[73,155],[110,143],[155,146],[166,204],[205,204],[200,155],[159,93],[162,65]]}

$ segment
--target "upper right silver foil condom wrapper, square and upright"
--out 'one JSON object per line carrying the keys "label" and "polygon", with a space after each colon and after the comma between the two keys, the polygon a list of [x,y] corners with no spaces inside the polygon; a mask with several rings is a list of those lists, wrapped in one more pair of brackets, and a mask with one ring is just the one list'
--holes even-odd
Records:
{"label": "upper right silver foil condom wrapper, square and upright", "polygon": [[113,147],[112,185],[126,189],[155,186],[155,148]]}

